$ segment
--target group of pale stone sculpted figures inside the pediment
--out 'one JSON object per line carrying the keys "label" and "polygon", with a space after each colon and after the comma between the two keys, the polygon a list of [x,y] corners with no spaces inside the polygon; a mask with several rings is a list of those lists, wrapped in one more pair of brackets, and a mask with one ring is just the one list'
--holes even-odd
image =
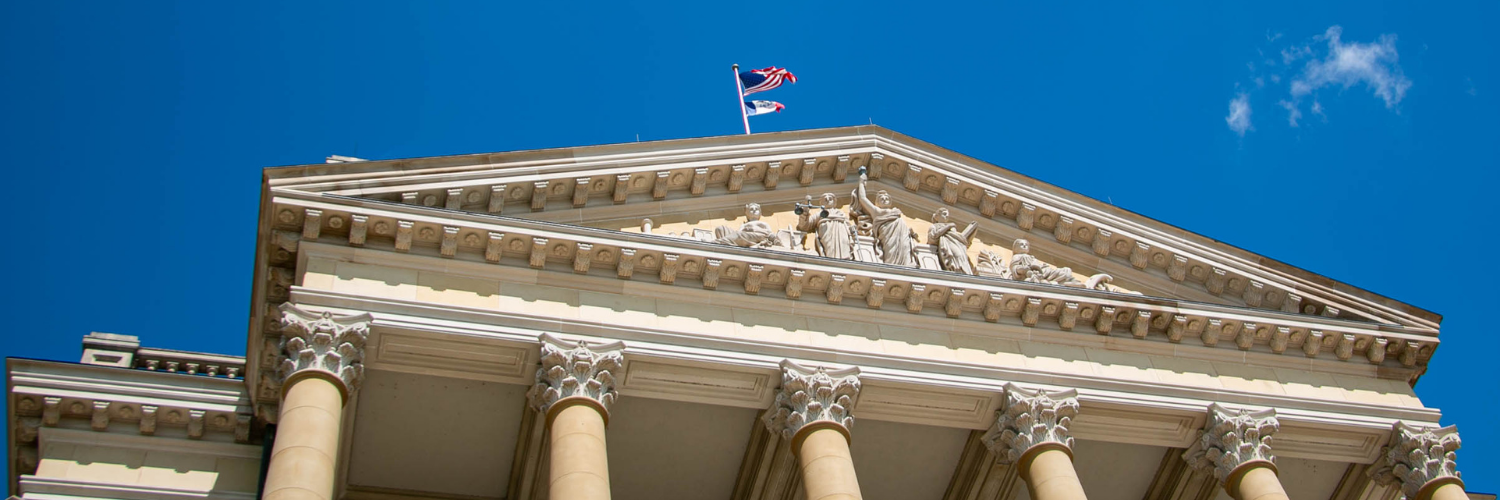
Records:
{"label": "group of pale stone sculpted figures inside the pediment", "polygon": [[[992,251],[981,251],[980,261],[969,260],[969,242],[978,222],[958,227],[946,207],[933,213],[927,243],[918,240],[885,191],[867,192],[867,177],[860,174],[849,210],[840,207],[838,197],[825,192],[813,203],[808,197],[796,206],[796,230],[814,234],[813,248],[828,258],[885,263],[903,267],[939,269],[964,275],[994,276],[1026,282],[1054,284],[1090,290],[1125,291],[1110,285],[1110,275],[1094,275],[1078,281],[1072,269],[1048,264],[1030,254],[1030,242],[1017,239],[1010,261]],[[720,225],[710,239],[722,245],[744,248],[776,248],[782,243],[777,231],[760,221],[760,204],[746,204],[746,222],[738,228]]]}

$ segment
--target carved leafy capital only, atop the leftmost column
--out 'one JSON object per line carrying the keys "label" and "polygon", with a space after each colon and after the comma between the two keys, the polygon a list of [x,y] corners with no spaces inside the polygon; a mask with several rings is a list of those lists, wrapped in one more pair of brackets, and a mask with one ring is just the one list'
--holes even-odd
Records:
{"label": "carved leafy capital only, atop the leftmost column", "polygon": [[358,390],[364,377],[364,339],[370,335],[370,315],[333,315],[312,312],[292,303],[280,305],[282,387],[297,377],[322,377],[334,381],[344,398]]}

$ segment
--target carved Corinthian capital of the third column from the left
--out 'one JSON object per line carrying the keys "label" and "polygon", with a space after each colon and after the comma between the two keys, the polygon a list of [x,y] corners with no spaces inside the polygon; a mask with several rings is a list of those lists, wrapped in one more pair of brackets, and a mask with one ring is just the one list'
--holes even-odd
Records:
{"label": "carved Corinthian capital of the third column from the left", "polygon": [[[782,389],[765,413],[765,426],[782,437],[798,440],[801,431],[832,428],[849,437],[855,401],[860,398],[860,368],[807,368],[782,360]],[[796,447],[794,447],[796,449]]]}

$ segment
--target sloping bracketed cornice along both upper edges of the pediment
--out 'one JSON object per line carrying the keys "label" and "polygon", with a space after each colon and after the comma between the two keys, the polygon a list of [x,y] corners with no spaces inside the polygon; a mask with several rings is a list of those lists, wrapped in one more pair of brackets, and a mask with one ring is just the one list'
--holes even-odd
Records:
{"label": "sloping bracketed cornice along both upper edges of the pediment", "polygon": [[[802,174],[806,159],[818,171]],[[872,179],[892,177],[908,191],[934,195],[956,207],[976,210],[984,218],[1011,221],[1022,230],[1052,234],[1062,245],[1078,245],[1096,255],[1119,260],[1142,270],[1155,270],[1174,282],[1192,282],[1214,294],[1233,294],[1248,305],[1323,315],[1359,315],[1377,323],[1402,323],[1436,332],[1437,315],[1394,303],[1353,287],[1308,273],[1260,255],[1186,233],[1138,215],[1106,206],[1096,200],[1059,189],[1035,179],[994,168],[972,158],[914,140],[884,128],[768,134],[753,138],[705,138],[640,144],[592,146],[540,152],[466,155],[386,162],[309,165],[268,171],[278,192],[330,192],[357,197],[406,200],[418,206],[442,206],[478,212],[500,212],[507,206],[531,204],[528,212],[582,207],[614,198],[615,204],[672,198],[690,191],[693,197],[710,192],[776,189],[774,183],[753,186],[756,170],[780,164],[783,185],[812,185],[816,180],[849,176],[858,165],[874,165]],[[477,165],[476,165],[477,164]],[[746,165],[752,182],[734,183],[730,167]],[[884,165],[884,167],[882,167]],[[843,167],[843,168],[840,168]],[[696,173],[708,168],[708,179]],[[624,197],[615,177],[632,176],[636,183]],[[668,174],[668,176],[660,176]],[[586,177],[586,179],[585,179]],[[656,179],[672,182],[668,189],[651,186]],[[741,177],[744,180],[744,177]],[[550,192],[537,197],[537,183]],[[490,200],[492,189],[508,195],[504,203]],[[597,188],[579,197],[576,186]],[[718,188],[714,188],[718,186]],[[735,186],[735,188],[728,188]],[[592,189],[591,188],[591,189]],[[462,200],[450,200],[454,192]],[[519,191],[518,191],[519,189]],[[717,189],[717,191],[716,191]],[[530,194],[528,194],[530,192]],[[657,194],[662,195],[657,195]],[[402,197],[411,194],[410,197]],[[687,192],[682,192],[687,195]],[[633,200],[632,200],[633,198]],[[537,203],[540,201],[540,203]],[[520,207],[519,210],[526,210]],[[1107,236],[1107,242],[1100,242]],[[1368,296],[1368,297],[1366,297]]]}

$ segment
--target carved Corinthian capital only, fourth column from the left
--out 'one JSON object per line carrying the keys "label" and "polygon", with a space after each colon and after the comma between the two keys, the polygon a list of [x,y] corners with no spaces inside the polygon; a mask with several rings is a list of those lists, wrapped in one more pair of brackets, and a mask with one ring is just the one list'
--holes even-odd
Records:
{"label": "carved Corinthian capital only, fourth column from the left", "polygon": [[1059,447],[1072,455],[1068,425],[1078,414],[1078,390],[1023,389],[1005,384],[1005,408],[984,432],[984,446],[1005,464],[1014,464],[1032,449]]}

